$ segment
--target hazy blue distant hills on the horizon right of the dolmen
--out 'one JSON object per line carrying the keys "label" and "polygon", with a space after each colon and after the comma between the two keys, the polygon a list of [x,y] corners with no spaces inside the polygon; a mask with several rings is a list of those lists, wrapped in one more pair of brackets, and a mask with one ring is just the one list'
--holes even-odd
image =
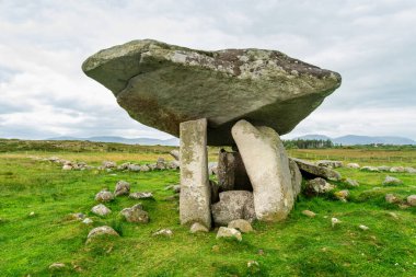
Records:
{"label": "hazy blue distant hills on the horizon right of the dolmen", "polygon": [[370,136],[347,135],[347,136],[343,136],[338,138],[330,138],[323,135],[307,135],[307,136],[301,136],[294,139],[317,139],[317,140],[330,139],[335,145],[343,145],[343,146],[374,145],[374,143],[395,145],[395,146],[416,145],[416,141],[413,139],[403,138],[403,137],[394,137],[394,136],[370,137]]}

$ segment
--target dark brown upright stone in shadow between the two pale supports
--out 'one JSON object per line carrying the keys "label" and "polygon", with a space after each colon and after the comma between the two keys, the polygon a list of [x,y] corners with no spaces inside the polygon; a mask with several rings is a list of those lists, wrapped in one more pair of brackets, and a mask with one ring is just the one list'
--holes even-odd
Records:
{"label": "dark brown upright stone in shadow between the two pale supports", "polygon": [[218,185],[222,191],[253,191],[241,154],[221,149],[217,165]]}

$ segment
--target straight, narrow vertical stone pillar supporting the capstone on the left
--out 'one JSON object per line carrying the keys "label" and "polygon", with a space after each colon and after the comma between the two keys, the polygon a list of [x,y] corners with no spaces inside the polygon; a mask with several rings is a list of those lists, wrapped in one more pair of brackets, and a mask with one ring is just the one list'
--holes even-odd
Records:
{"label": "straight, narrow vertical stone pillar supporting the capstone on the left", "polygon": [[208,181],[207,119],[181,123],[182,224],[199,222],[211,227],[210,186]]}

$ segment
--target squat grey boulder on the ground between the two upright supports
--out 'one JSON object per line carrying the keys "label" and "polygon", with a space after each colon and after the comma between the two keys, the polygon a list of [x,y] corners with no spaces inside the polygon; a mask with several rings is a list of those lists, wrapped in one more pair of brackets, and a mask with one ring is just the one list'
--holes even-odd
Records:
{"label": "squat grey boulder on the ground between the two upright supports", "polygon": [[253,221],[256,218],[251,192],[228,191],[220,193],[219,197],[220,201],[211,206],[216,226],[227,226],[235,219]]}

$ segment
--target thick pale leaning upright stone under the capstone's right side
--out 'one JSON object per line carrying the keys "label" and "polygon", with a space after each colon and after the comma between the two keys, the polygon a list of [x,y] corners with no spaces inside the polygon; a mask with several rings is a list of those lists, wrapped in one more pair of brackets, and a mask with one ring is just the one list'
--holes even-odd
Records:
{"label": "thick pale leaning upright stone under the capstone's right side", "polygon": [[238,122],[231,132],[253,186],[257,219],[285,219],[293,207],[294,194],[279,136],[271,128],[254,127],[246,120]]}

